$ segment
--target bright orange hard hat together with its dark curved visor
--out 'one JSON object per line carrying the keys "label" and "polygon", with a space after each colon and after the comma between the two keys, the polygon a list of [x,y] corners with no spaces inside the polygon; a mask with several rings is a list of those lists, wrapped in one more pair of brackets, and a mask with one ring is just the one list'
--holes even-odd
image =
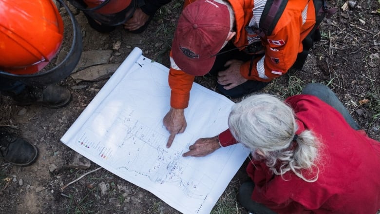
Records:
{"label": "bright orange hard hat together with its dark curved visor", "polygon": [[55,66],[43,69],[66,35],[55,4],[51,0],[0,0],[0,78],[44,86],[70,76],[82,54],[82,35],[69,7],[63,0],[57,3],[71,21],[66,26],[72,36],[71,46]]}

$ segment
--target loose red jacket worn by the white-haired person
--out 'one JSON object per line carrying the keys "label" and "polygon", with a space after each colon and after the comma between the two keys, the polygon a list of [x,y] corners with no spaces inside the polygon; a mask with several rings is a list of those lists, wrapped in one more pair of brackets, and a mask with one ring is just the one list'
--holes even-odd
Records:
{"label": "loose red jacket worn by the white-haired person", "polygon": [[261,161],[249,163],[255,183],[252,199],[279,214],[376,214],[380,209],[380,142],[352,129],[342,115],[320,99],[298,95],[285,100],[299,130],[312,130],[324,145],[317,181],[293,173],[284,180]]}

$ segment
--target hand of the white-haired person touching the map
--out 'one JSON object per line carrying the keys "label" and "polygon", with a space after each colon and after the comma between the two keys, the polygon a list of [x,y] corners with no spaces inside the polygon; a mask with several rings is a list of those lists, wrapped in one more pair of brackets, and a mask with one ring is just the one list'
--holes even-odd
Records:
{"label": "hand of the white-haired person touching the map", "polygon": [[193,156],[193,157],[207,156],[219,148],[220,148],[220,144],[219,144],[218,136],[200,138],[197,141],[195,141],[195,143],[189,147],[190,151],[187,153],[184,153],[182,156],[184,156],[184,157],[187,157],[187,156]]}

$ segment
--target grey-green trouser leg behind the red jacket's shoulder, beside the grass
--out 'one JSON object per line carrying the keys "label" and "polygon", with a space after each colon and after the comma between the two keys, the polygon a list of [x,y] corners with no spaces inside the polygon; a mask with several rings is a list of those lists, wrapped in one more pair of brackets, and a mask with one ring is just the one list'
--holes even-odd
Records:
{"label": "grey-green trouser leg behind the red jacket's shoulder, beside the grass", "polygon": [[332,106],[339,113],[342,114],[347,123],[355,130],[359,130],[359,125],[355,122],[354,118],[351,117],[347,109],[343,106],[342,102],[338,97],[332,92],[327,86],[320,83],[308,84],[302,91],[304,95],[313,95],[320,98],[325,103]]}

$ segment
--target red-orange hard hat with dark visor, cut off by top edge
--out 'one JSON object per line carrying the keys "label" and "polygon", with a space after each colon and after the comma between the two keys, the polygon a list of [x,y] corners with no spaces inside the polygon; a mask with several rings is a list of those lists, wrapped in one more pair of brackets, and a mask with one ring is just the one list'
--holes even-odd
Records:
{"label": "red-orange hard hat with dark visor, cut off by top edge", "polygon": [[103,24],[115,26],[133,16],[137,0],[70,0],[79,10]]}

